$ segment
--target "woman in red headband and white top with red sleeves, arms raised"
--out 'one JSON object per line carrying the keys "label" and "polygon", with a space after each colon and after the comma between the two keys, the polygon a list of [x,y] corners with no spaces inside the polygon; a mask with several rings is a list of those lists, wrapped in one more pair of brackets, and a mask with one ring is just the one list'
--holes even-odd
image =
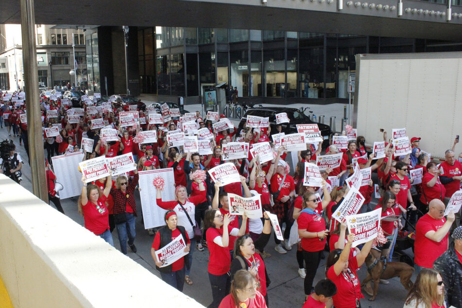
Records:
{"label": "woman in red headband and white top with red sleeves, arms raised", "polygon": [[[196,227],[196,222],[194,219],[196,205],[200,204],[205,197],[205,186],[204,182],[196,178],[196,183],[199,186],[199,191],[201,192],[198,195],[188,198],[188,193],[186,192],[186,187],[177,186],[175,189],[175,201],[162,201],[162,190],[157,188],[156,202],[157,205],[168,210],[173,210],[177,213],[178,216],[178,225],[185,227],[188,237],[191,240],[191,250],[188,255],[189,266],[192,265],[192,253],[194,252],[194,246],[196,240],[194,239],[194,228]],[[188,285],[192,285],[192,280],[189,278],[189,269],[186,269],[185,281]]]}

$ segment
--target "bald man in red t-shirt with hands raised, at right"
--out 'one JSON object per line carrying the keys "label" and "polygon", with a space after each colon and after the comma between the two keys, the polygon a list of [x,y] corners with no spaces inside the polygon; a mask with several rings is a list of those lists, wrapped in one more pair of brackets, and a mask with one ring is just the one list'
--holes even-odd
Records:
{"label": "bald man in red t-shirt with hands raised, at right", "polygon": [[433,262],[448,247],[449,229],[455,216],[451,211],[444,218],[445,204],[433,199],[428,205],[428,213],[422,216],[415,225],[414,268],[418,274],[423,268],[432,268]]}

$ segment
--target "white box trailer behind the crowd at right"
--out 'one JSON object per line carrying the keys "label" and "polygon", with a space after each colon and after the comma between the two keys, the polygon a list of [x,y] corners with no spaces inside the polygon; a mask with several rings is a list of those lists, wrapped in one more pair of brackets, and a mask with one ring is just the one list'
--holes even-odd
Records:
{"label": "white box trailer behind the crowd at right", "polygon": [[[353,127],[366,145],[406,127],[420,148],[444,158],[462,136],[462,52],[356,55]],[[456,157],[462,142],[456,146]]]}

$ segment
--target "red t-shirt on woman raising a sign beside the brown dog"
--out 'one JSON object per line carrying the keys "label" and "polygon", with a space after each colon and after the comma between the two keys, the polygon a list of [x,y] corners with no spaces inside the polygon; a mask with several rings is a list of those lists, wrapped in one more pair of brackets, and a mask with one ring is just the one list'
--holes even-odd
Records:
{"label": "red t-shirt on woman raising a sign beside the brown dog", "polygon": [[356,300],[364,298],[361,293],[361,285],[359,284],[356,269],[358,268],[358,261],[356,257],[348,260],[348,273],[340,273],[336,275],[334,266],[331,266],[327,271],[327,278],[332,280],[337,287],[337,294],[333,296],[334,306],[336,308],[352,308],[356,307]]}

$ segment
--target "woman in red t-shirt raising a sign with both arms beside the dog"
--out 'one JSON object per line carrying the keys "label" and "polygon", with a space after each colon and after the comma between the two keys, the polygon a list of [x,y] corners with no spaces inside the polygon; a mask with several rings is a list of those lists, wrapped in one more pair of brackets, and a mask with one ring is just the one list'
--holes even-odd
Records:
{"label": "woman in red t-shirt raising a sign with both arms beside the dog", "polygon": [[331,251],[325,264],[327,279],[332,280],[337,287],[337,293],[333,296],[336,308],[361,307],[359,301],[364,298],[356,270],[364,263],[374,240],[366,242],[359,254],[350,258],[351,244],[354,240],[355,235],[349,234],[345,248]]}

